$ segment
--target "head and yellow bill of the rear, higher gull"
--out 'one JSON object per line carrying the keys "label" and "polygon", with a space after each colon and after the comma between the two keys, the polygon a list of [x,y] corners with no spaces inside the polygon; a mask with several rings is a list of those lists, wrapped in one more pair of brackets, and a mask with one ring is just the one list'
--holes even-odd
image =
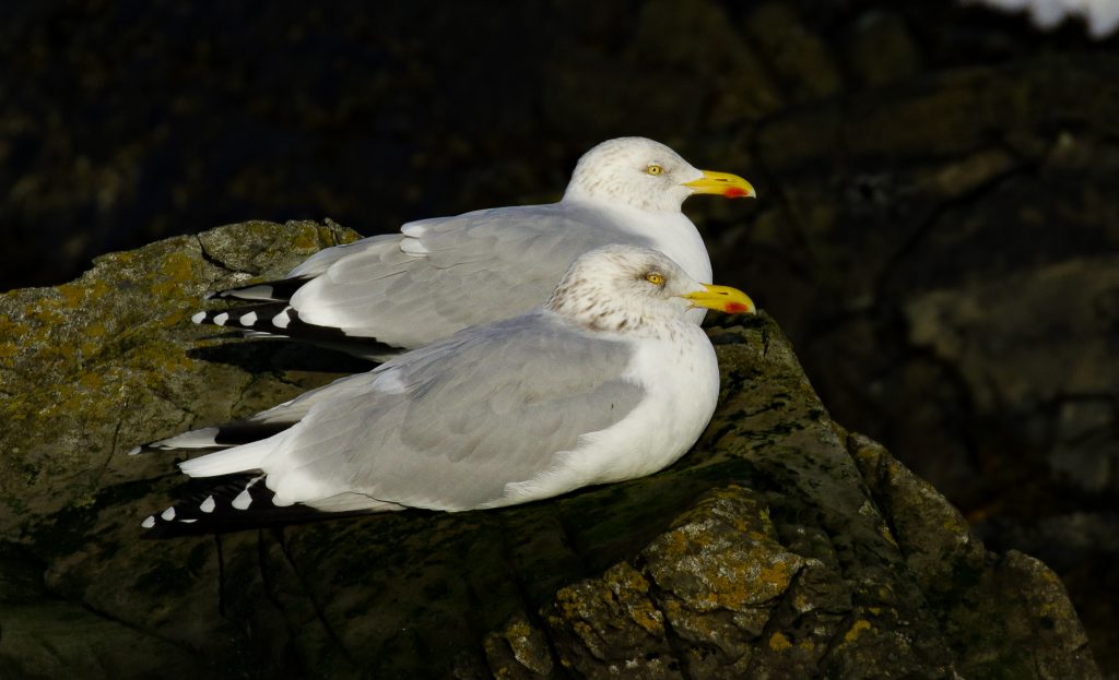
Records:
{"label": "head and yellow bill of the rear, higher gull", "polygon": [[606,140],[579,159],[564,200],[592,200],[648,211],[679,211],[693,193],[752,197],[736,174],[697,170],[680,154],[643,136]]}

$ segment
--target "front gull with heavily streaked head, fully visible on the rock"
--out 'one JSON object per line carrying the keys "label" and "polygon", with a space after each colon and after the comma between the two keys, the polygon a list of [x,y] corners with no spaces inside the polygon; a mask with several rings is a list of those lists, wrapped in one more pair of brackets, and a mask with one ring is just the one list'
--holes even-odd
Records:
{"label": "front gull with heavily streaked head, fully visible on the rock", "polygon": [[592,251],[525,314],[137,447],[206,453],[179,463],[206,483],[198,498],[142,526],[159,537],[330,512],[460,512],[651,474],[715,410],[718,365],[693,309],[755,311],[662,253]]}

